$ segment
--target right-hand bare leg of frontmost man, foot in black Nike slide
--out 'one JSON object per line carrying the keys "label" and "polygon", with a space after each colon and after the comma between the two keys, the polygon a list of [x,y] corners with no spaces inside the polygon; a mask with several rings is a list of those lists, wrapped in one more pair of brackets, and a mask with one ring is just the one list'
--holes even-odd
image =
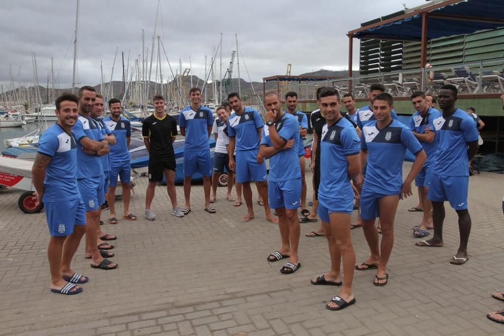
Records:
{"label": "right-hand bare leg of frontmost man, foot in black Nike slide", "polygon": [[[352,283],[355,271],[355,251],[353,249],[352,239],[350,236],[352,217],[349,214],[331,213],[329,214],[329,219],[331,221],[330,225],[335,237],[336,249],[339,252],[340,258],[343,259],[343,273],[345,274],[343,286],[341,287],[338,296],[346,302],[349,302],[353,299]],[[336,257],[338,257],[338,255],[336,255]],[[330,307],[338,306],[333,302],[328,303],[328,305]]]}

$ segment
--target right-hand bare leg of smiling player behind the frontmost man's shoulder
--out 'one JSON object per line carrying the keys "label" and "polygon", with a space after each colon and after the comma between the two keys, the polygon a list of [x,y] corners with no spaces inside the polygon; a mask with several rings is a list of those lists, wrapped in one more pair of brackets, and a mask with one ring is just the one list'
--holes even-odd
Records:
{"label": "right-hand bare leg of smiling player behind the frontmost man's shoulder", "polygon": [[399,195],[384,196],[378,200],[380,208],[380,225],[382,228],[382,244],[380,248],[380,263],[378,265],[377,276],[385,277],[387,273],[387,263],[394,246],[394,219],[396,217]]}

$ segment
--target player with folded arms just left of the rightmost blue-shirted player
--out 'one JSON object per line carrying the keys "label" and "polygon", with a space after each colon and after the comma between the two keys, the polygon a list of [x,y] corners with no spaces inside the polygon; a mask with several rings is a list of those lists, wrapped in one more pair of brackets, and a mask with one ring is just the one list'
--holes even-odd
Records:
{"label": "player with folded arms just left of the rightmost blue-shirted player", "polygon": [[[413,135],[418,139],[427,155],[427,160],[422,167],[422,170],[415,178],[415,185],[418,188],[420,196],[420,204],[423,206],[422,223],[413,227],[413,236],[425,237],[429,235],[428,229],[432,229],[432,203],[427,199],[429,191],[429,176],[431,174],[432,163],[435,159],[437,150],[437,141],[435,141],[434,119],[437,119],[441,113],[438,110],[429,107],[426,96],[423,92],[415,91],[411,95],[411,103],[416,112],[413,113],[410,119],[409,128]],[[411,210],[411,209],[410,209]]]}

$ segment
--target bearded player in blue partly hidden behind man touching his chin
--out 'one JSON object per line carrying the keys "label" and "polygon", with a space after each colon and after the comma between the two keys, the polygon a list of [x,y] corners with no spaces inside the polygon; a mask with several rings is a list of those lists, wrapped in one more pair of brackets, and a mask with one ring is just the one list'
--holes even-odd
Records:
{"label": "bearded player in blue partly hidden behind man touching his chin", "polygon": [[306,170],[306,163],[304,160],[304,137],[306,137],[306,132],[308,131],[308,118],[304,112],[297,110],[297,93],[294,91],[287,92],[285,94],[285,104],[287,105],[287,110],[285,112],[292,114],[296,117],[299,123],[299,167],[301,168],[301,215],[307,217],[310,212],[306,209],[306,179],[304,177],[304,171]]}

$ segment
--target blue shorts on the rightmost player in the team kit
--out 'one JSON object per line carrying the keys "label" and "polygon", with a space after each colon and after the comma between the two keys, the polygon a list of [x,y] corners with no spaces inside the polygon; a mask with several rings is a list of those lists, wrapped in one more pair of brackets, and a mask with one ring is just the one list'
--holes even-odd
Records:
{"label": "blue shorts on the rightmost player in the team kit", "polygon": [[439,176],[431,174],[427,198],[433,202],[448,200],[455,210],[467,209],[469,176]]}

